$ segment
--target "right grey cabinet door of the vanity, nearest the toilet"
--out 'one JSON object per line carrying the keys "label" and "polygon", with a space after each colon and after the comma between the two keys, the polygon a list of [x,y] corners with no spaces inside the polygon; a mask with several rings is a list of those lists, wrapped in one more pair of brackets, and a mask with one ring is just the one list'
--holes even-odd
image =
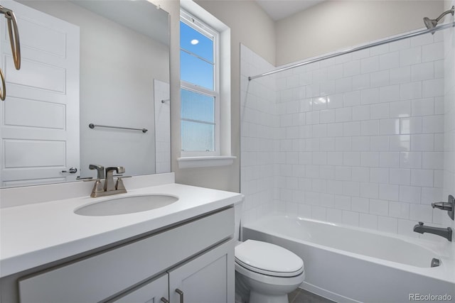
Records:
{"label": "right grey cabinet door of the vanity, nearest the toilet", "polygon": [[168,273],[171,303],[232,303],[234,241],[208,250]]}

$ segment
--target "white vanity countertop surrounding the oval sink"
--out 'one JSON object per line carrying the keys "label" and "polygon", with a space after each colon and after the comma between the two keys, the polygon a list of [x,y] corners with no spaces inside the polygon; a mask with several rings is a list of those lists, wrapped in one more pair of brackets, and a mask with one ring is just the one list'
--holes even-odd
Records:
{"label": "white vanity countertop surrounding the oval sink", "polygon": [[[179,199],[134,214],[80,216],[73,212],[85,204],[142,194],[169,194]],[[191,219],[240,202],[242,197],[234,192],[173,183],[110,197],[77,197],[0,209],[0,277]]]}

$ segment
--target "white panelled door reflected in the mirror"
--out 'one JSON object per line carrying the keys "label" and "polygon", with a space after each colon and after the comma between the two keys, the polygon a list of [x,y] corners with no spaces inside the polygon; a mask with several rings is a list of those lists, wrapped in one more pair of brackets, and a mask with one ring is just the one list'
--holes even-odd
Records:
{"label": "white panelled door reflected in the mirror", "polygon": [[15,1],[22,67],[0,28],[7,97],[0,106],[0,186],[68,182],[79,169],[79,27]]}

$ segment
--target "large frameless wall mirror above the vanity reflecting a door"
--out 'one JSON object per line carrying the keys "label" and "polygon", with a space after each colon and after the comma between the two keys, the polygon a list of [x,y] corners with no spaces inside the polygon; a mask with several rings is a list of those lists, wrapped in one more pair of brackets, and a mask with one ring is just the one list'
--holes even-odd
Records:
{"label": "large frameless wall mirror above the vanity reflecting a door", "polygon": [[16,14],[22,54],[15,70],[3,18],[1,187],[95,177],[90,164],[170,171],[166,11],[146,0],[0,4]]}

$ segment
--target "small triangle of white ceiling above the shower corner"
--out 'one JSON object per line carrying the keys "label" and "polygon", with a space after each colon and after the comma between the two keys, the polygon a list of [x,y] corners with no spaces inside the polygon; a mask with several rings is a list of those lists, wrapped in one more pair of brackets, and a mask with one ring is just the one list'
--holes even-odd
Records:
{"label": "small triangle of white ceiling above the shower corner", "polygon": [[324,0],[256,0],[274,21],[279,21],[294,13],[308,9]]}

